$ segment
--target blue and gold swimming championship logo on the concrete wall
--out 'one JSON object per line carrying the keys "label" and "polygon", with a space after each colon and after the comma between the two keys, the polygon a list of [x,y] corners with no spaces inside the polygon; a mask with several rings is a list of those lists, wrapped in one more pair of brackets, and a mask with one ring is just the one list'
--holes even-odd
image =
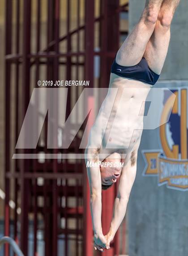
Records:
{"label": "blue and gold swimming championship logo on the concrete wall", "polygon": [[[169,121],[159,127],[161,149],[142,151],[147,163],[143,175],[157,175],[158,185],[188,190],[188,88],[172,90],[176,95],[171,109],[171,97],[165,94],[161,121]],[[173,95],[173,94],[172,94]],[[164,122],[163,122],[164,123]]]}

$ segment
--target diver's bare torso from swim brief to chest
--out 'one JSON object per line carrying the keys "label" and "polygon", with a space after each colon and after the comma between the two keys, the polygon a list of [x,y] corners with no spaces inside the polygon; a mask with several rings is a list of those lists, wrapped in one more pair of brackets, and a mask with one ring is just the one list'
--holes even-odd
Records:
{"label": "diver's bare torso from swim brief to chest", "polygon": [[[100,153],[108,154],[129,153],[132,150],[142,134],[145,106],[143,102],[150,87],[143,82],[111,73],[107,97],[90,132],[90,148],[94,148],[95,144],[100,148]],[[109,102],[112,99],[115,99],[113,108],[109,109]],[[107,114],[109,111],[110,118]]]}

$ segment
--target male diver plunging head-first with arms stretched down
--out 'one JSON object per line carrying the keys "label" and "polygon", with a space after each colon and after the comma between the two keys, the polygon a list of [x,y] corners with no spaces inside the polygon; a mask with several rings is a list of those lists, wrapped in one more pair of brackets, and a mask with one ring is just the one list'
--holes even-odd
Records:
{"label": "male diver plunging head-first with arms stretched down", "polygon": [[[141,18],[121,45],[111,66],[108,94],[90,130],[85,150],[86,164],[88,161],[112,164],[112,167],[87,167],[95,250],[110,248],[110,242],[124,219],[136,176],[137,151],[143,129],[144,105],[141,107],[141,102],[145,102],[150,87],[162,71],[171,21],[179,1],[146,0]],[[113,90],[115,88],[118,90]],[[111,102],[114,104],[108,116]],[[117,166],[118,162],[124,164],[122,168]],[[101,192],[117,179],[120,180],[111,226],[103,235]]]}

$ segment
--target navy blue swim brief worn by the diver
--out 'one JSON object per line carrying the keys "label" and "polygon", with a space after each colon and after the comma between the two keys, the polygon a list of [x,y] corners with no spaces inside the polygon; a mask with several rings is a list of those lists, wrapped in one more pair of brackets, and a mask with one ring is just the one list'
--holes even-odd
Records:
{"label": "navy blue swim brief worn by the diver", "polygon": [[118,76],[123,76],[125,78],[138,80],[150,85],[154,85],[159,78],[159,75],[150,69],[144,57],[142,57],[141,61],[137,65],[131,67],[121,66],[116,63],[114,59],[114,62],[111,65],[111,73]]}

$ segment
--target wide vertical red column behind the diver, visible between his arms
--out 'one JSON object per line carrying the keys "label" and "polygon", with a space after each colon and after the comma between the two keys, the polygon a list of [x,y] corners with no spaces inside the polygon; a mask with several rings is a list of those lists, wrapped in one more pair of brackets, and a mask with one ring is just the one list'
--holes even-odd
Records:
{"label": "wide vertical red column behind the diver, visible between his arms", "polygon": [[[115,52],[119,48],[119,1],[103,0],[101,1],[101,15],[103,20],[100,27],[100,46],[104,53],[101,56],[100,72],[103,74],[100,77],[100,85],[102,87],[108,87],[110,67],[115,56]],[[113,35],[111,37],[111,35]],[[109,40],[111,38],[111,40]],[[108,52],[114,52],[114,56],[108,56]],[[113,205],[116,196],[117,184],[113,185],[107,191],[102,192],[102,224],[103,234],[107,234],[110,228],[111,219],[113,215]],[[105,252],[105,256],[119,255],[119,241],[118,232],[115,235],[114,243],[111,245],[111,249]]]}

